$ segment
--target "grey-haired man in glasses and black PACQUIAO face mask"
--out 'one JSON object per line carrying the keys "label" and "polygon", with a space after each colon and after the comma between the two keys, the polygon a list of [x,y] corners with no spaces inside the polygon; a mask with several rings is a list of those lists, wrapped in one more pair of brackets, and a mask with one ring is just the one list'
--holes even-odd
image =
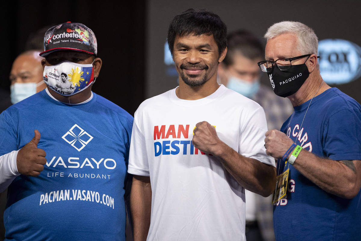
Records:
{"label": "grey-haired man in glasses and black PACQUIAO face mask", "polygon": [[276,240],[361,240],[361,106],[323,81],[308,26],[275,23],[265,38],[258,64],[294,108],[281,131],[265,134],[280,183],[288,182],[274,199]]}

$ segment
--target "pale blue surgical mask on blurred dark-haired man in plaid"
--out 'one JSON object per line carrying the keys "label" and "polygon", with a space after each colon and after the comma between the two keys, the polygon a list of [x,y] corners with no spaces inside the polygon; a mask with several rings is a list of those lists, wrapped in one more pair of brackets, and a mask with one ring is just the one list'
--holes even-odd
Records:
{"label": "pale blue surgical mask on blurred dark-haired man in plaid", "polygon": [[259,79],[257,79],[253,82],[249,82],[240,78],[236,78],[234,76],[230,76],[230,78],[228,79],[227,88],[234,90],[239,94],[249,98],[252,95],[256,94],[256,92],[260,88],[260,81]]}

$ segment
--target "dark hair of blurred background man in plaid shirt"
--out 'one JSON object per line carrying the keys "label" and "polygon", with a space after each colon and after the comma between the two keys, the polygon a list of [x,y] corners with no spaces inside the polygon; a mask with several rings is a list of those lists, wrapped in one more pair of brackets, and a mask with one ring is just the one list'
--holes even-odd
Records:
{"label": "dark hair of blurred background man in plaid shirt", "polygon": [[233,64],[235,53],[240,53],[251,60],[263,59],[265,56],[264,44],[262,44],[257,36],[247,30],[238,30],[230,33],[227,36],[227,43],[227,55],[222,61],[226,66]]}

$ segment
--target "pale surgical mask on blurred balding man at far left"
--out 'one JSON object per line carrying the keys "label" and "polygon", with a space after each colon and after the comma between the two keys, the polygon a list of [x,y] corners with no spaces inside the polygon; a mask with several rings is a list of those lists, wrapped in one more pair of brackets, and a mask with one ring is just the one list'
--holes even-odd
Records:
{"label": "pale surgical mask on blurred balding man at far left", "polygon": [[19,101],[28,98],[36,93],[36,87],[42,85],[44,82],[39,83],[13,83],[10,85],[10,101],[15,104]]}

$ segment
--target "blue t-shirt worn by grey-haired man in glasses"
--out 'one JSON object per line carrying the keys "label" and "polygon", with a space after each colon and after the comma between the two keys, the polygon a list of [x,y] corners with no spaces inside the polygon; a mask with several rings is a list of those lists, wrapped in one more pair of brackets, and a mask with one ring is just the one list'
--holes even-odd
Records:
{"label": "blue t-shirt worn by grey-haired man in glasses", "polygon": [[[309,103],[294,107],[294,116],[281,131],[293,141],[300,132],[296,144],[319,157],[361,160],[360,104],[331,88],[313,98],[304,118]],[[282,173],[283,167],[284,163],[277,172]],[[289,167],[287,197],[274,206],[276,240],[361,240],[361,193],[352,199],[337,197]]]}

